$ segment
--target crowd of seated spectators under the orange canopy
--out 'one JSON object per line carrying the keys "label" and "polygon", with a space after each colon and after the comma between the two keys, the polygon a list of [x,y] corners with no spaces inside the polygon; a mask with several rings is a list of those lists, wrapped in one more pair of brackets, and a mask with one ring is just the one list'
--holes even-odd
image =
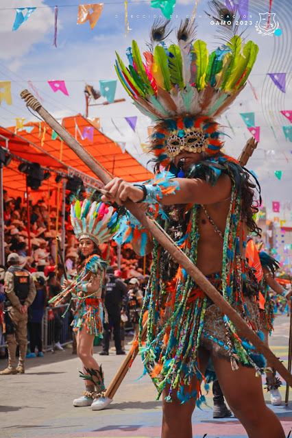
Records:
{"label": "crowd of seated spectators under the orange canopy", "polygon": [[[62,288],[64,280],[64,269],[60,264],[60,260],[56,260],[56,234],[61,236],[61,222],[62,218],[58,215],[57,209],[51,206],[48,211],[47,202],[40,199],[38,202],[29,200],[29,215],[27,215],[27,203],[21,197],[14,198],[8,191],[3,191],[3,210],[4,210],[4,247],[5,247],[5,265],[2,267],[3,271],[8,268],[7,258],[12,252],[19,254],[19,265],[27,269],[36,282],[37,294],[32,304],[32,317],[28,324],[29,329],[29,357],[35,356],[35,349],[38,353],[42,353],[42,339],[41,339],[41,323],[44,315],[44,309],[48,307],[48,300],[54,295],[58,294]],[[28,218],[29,217],[29,223]],[[58,219],[58,224],[56,224]],[[69,206],[66,206],[66,215],[64,218],[65,225],[65,241],[61,242],[65,247],[64,265],[66,273],[73,278],[77,273],[78,260],[78,241],[75,239],[73,227],[69,219]],[[58,230],[58,232],[56,231]],[[30,239],[29,239],[30,237]],[[30,243],[30,247],[29,247]],[[99,245],[101,255],[109,261],[109,264],[114,269],[114,276],[120,278],[125,284],[130,282],[128,287],[129,294],[132,293],[133,281],[139,286],[139,290],[145,291],[147,278],[149,276],[149,265],[151,260],[147,260],[137,256],[132,250],[130,244],[125,244],[121,247],[121,255],[118,267],[118,248],[114,242]],[[134,279],[134,280],[133,280]],[[0,276],[0,310],[3,311],[5,300],[3,287],[3,278]],[[127,300],[127,305],[121,303],[123,306],[122,313],[127,314],[126,326],[130,328],[131,321],[134,323],[133,306],[131,307],[131,300]],[[139,304],[141,307],[141,303]],[[135,312],[137,315],[138,310]],[[1,312],[0,312],[1,313]],[[48,319],[53,320],[53,339],[48,339],[56,350],[62,350],[60,342],[60,332],[63,326],[63,320],[59,313],[54,309],[49,311]],[[1,330],[0,317],[0,345],[5,344],[5,339]],[[52,323],[49,323],[52,324]],[[124,328],[125,324],[123,324]],[[136,327],[133,326],[133,331]],[[136,331],[136,330],[135,330]],[[74,350],[73,350],[74,352]],[[42,354],[38,354],[41,356]],[[5,348],[0,348],[0,357],[5,356]]]}

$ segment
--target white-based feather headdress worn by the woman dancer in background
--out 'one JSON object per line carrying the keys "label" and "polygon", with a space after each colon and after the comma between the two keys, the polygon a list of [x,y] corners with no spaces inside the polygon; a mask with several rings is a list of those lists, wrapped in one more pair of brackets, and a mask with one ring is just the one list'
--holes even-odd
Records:
{"label": "white-based feather headdress worn by the woman dancer in background", "polygon": [[71,223],[78,240],[87,237],[97,245],[112,239],[119,229],[117,210],[104,202],[91,202],[90,199],[71,204]]}

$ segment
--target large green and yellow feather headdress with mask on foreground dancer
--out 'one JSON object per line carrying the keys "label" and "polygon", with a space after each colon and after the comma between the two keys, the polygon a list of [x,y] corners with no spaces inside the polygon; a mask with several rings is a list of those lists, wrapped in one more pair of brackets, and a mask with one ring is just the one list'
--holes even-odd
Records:
{"label": "large green and yellow feather headdress with mask on foreground dancer", "polygon": [[[219,1],[212,5],[220,13],[220,8],[225,8]],[[216,120],[243,90],[258,53],[254,42],[243,44],[232,25],[224,29],[226,44],[210,53],[206,42],[193,42],[195,31],[188,20],[177,32],[178,45],[167,47],[164,39],[169,35],[168,27],[169,22],[154,23],[144,61],[133,40],[126,52],[129,66],[118,54],[115,65],[134,105],[156,122],[151,149],[162,165],[181,149],[209,154],[220,149],[223,143]]]}

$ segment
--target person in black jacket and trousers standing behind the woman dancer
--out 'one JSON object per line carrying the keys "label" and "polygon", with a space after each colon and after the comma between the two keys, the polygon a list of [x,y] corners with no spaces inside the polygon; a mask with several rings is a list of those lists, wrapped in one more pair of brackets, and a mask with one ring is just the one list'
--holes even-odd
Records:
{"label": "person in black jacket and trousers standing behind the woman dancer", "polygon": [[106,269],[108,276],[108,283],[106,284],[106,297],[105,306],[108,311],[108,323],[104,324],[104,339],[102,342],[103,350],[99,353],[101,356],[108,356],[108,349],[110,346],[110,321],[114,328],[114,345],[116,347],[117,354],[125,354],[125,351],[121,348],[121,302],[123,301],[123,295],[127,295],[127,286],[114,276],[114,268],[109,266]]}

